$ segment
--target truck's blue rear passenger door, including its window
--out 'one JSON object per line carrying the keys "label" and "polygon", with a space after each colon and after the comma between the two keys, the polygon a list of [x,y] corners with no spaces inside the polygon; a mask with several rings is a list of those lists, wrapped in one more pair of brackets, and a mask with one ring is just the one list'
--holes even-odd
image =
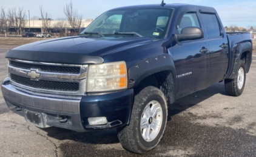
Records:
{"label": "truck's blue rear passenger door, including its window", "polygon": [[210,67],[206,71],[206,87],[224,79],[228,65],[228,41],[215,12],[200,10],[204,32],[209,43]]}

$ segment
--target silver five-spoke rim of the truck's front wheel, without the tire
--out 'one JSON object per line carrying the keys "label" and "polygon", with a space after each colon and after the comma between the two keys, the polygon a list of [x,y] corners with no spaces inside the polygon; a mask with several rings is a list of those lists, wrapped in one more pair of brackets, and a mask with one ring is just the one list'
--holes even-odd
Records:
{"label": "silver five-spoke rim of the truck's front wheel, without the tire", "polygon": [[153,141],[160,132],[163,110],[158,101],[150,101],[141,116],[141,135],[145,141]]}

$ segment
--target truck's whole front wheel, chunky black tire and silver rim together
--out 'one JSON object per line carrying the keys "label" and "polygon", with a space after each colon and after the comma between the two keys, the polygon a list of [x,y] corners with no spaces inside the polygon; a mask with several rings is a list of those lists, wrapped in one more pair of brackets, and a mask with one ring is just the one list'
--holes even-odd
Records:
{"label": "truck's whole front wheel, chunky black tire and silver rim together", "polygon": [[130,123],[118,129],[124,149],[146,153],[161,141],[167,122],[167,103],[163,92],[148,86],[135,95]]}

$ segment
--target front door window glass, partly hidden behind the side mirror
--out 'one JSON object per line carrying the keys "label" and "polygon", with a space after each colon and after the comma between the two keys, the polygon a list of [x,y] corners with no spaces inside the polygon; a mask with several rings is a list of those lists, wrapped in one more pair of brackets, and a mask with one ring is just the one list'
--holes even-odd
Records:
{"label": "front door window glass, partly hidden behind the side mirror", "polygon": [[200,27],[196,13],[185,13],[178,24],[178,32],[180,33],[186,27]]}

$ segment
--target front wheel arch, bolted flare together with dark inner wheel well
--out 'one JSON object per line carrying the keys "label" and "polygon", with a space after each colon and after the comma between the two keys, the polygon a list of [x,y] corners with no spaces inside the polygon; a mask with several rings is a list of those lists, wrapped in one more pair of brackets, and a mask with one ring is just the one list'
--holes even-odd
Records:
{"label": "front wheel arch, bolted flare together with dark inner wheel well", "polygon": [[[172,104],[177,95],[177,75],[172,56],[160,55],[133,64],[128,70],[128,88],[135,92],[152,85]],[[136,94],[136,93],[135,93]]]}

